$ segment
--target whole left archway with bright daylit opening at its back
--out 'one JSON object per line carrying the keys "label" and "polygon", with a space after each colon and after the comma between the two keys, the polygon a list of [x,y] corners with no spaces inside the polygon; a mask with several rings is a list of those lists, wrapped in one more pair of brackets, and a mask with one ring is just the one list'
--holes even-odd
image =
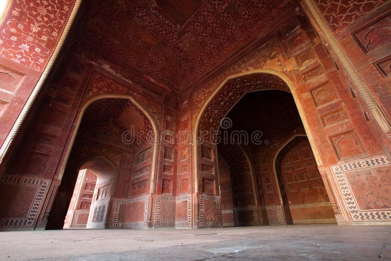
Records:
{"label": "whole left archway with bright daylit opening at its back", "polygon": [[[148,112],[126,97],[115,94],[95,97],[82,107],[82,118],[66,152],[64,175],[48,229],[108,228],[118,222],[125,227],[133,223],[147,226],[147,222],[140,224],[146,219],[146,211],[139,205],[148,208],[148,195],[154,188],[157,128]],[[93,178],[86,179],[88,172],[97,177],[94,188]],[[87,183],[88,191],[83,187]],[[83,194],[92,197],[84,200]],[[121,200],[130,204],[121,204],[122,209],[117,206],[113,211]],[[134,201],[138,209],[133,209]],[[82,215],[76,215],[79,213]]]}

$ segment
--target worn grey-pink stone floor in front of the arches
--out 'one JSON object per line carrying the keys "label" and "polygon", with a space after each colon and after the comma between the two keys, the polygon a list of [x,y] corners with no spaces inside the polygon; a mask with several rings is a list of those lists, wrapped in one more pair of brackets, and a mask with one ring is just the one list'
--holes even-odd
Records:
{"label": "worn grey-pink stone floor in front of the arches", "polygon": [[391,226],[0,232],[0,260],[391,259]]}

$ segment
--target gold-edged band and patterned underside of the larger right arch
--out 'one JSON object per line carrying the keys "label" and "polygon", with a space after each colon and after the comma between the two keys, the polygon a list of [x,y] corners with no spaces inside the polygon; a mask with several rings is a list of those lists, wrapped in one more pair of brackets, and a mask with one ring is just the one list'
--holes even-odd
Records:
{"label": "gold-edged band and patterned underside of the larger right arch", "polygon": [[[205,193],[204,179],[211,179],[208,174],[205,174],[204,165],[213,166],[218,169],[217,163],[217,147],[214,143],[213,131],[218,130],[221,120],[227,113],[236,105],[236,103],[249,92],[276,89],[290,92],[293,96],[294,103],[300,115],[304,126],[304,133],[308,138],[311,150],[316,160],[317,166],[322,166],[323,160],[319,152],[321,148],[316,147],[312,130],[307,123],[308,113],[304,112],[302,103],[299,99],[297,89],[293,86],[291,80],[283,73],[271,69],[256,69],[239,74],[235,74],[223,81],[210,96],[205,103],[200,113],[198,114],[194,125],[193,137],[193,153],[194,153],[194,188],[197,193],[198,205],[195,204],[194,212],[195,224],[198,227],[220,226],[220,189],[218,186],[218,178],[215,176],[216,189],[212,190],[216,193]],[[277,174],[274,173],[275,181],[278,180]],[[283,210],[282,192],[279,185],[278,190],[278,205],[269,207],[276,212],[277,216],[285,216]],[[330,196],[330,198],[333,198]],[[210,203],[213,202],[213,203]],[[333,202],[332,202],[333,203]],[[199,208],[198,208],[199,206]],[[206,215],[211,210],[206,209],[217,208],[217,215]],[[212,211],[214,212],[214,211]],[[262,214],[260,214],[262,215]],[[198,217],[198,219],[197,219]],[[209,220],[215,219],[215,220]],[[211,218],[212,217],[212,218]],[[286,224],[286,219],[282,218],[282,223]],[[335,219],[334,219],[335,220]],[[335,222],[335,221],[334,221]]]}

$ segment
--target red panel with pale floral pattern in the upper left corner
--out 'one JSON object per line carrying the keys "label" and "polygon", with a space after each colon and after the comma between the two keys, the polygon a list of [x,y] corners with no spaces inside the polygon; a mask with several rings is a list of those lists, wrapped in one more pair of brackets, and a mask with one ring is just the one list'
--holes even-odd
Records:
{"label": "red panel with pale floral pattern in the upper left corner", "polygon": [[0,28],[0,56],[42,70],[76,0],[14,0]]}

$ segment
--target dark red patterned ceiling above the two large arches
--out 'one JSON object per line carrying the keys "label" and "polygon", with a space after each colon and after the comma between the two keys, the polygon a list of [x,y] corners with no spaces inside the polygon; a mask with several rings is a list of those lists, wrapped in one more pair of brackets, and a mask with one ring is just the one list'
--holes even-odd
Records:
{"label": "dark red patterned ceiling above the two large arches", "polygon": [[94,0],[79,36],[99,53],[181,90],[259,38],[289,0]]}

